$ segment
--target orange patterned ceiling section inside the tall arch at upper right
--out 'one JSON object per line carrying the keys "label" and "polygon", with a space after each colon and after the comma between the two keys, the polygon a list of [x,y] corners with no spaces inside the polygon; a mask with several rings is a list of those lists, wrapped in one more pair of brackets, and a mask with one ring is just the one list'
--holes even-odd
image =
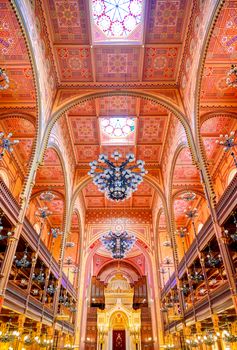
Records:
{"label": "orange patterned ceiling section inside the tall arch at upper right", "polygon": [[204,69],[201,87],[203,105],[236,106],[237,90],[226,85],[231,63],[236,63],[237,7],[235,1],[226,1],[215,24]]}

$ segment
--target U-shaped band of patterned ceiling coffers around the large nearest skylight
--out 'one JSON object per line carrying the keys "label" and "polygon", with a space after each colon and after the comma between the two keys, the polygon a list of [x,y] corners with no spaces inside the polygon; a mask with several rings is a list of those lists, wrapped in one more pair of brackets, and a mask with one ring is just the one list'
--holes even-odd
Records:
{"label": "U-shaped band of patterned ceiling coffers around the large nearest skylight", "polygon": [[92,47],[89,0],[44,0],[60,83],[175,82],[190,4],[188,0],[145,1],[147,25],[140,45]]}

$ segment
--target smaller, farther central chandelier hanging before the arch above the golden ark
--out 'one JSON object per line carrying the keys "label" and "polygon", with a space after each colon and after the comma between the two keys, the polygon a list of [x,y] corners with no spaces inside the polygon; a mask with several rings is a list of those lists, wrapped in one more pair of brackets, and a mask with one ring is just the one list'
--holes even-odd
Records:
{"label": "smaller, farther central chandelier hanging before the arch above the golden ark", "polygon": [[126,231],[112,232],[101,237],[104,247],[111,252],[113,259],[123,259],[125,254],[133,247],[135,236],[129,236]]}

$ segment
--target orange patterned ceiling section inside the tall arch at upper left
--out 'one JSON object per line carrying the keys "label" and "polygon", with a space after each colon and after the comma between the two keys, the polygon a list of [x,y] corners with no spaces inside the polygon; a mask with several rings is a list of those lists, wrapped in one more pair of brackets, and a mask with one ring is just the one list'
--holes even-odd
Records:
{"label": "orange patterned ceiling section inside the tall arch at upper left", "polygon": [[23,33],[10,1],[1,0],[0,8],[0,67],[10,80],[9,88],[1,90],[0,107],[34,107],[35,88]]}

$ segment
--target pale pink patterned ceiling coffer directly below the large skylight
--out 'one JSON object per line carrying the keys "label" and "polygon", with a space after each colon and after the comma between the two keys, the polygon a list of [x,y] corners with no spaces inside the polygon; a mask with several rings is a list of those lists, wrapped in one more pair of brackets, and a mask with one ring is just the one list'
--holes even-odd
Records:
{"label": "pale pink patterned ceiling coffer directly below the large skylight", "polygon": [[137,47],[96,47],[96,80],[122,81],[138,80],[140,48]]}

